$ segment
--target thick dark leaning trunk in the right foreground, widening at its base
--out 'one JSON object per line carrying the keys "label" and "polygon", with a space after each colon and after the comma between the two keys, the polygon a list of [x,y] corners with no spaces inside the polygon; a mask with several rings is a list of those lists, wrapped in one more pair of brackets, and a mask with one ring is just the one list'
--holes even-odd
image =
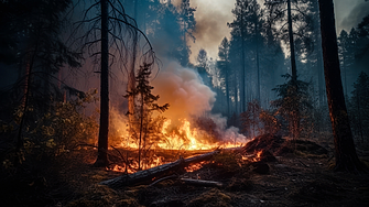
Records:
{"label": "thick dark leaning trunk in the right foreground, widening at its base", "polygon": [[365,165],[359,161],[345,105],[340,78],[338,46],[333,0],[319,0],[324,75],[332,121],[336,171],[357,172]]}

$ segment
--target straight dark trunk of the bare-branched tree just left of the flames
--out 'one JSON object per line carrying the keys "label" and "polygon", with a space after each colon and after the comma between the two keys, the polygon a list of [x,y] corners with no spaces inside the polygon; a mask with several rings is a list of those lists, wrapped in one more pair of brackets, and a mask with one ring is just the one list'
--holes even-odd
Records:
{"label": "straight dark trunk of the bare-branched tree just left of the flames", "polygon": [[109,4],[100,0],[101,7],[101,79],[100,79],[100,128],[98,156],[95,166],[107,166],[109,134]]}

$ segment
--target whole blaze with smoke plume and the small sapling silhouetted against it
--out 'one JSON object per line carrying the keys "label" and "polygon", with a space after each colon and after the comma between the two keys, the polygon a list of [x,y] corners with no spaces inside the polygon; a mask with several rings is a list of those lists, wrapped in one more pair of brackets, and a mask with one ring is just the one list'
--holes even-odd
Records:
{"label": "whole blaze with smoke plume and the small sapling silhouetted against it", "polygon": [[[135,117],[129,119],[120,112],[112,112],[113,128],[119,140],[116,146],[138,154],[131,156],[130,162],[124,162],[128,167],[112,167],[113,171],[132,173],[148,170],[174,161],[174,157],[167,159],[173,153],[176,154],[175,159],[186,157],[196,151],[205,153],[240,146],[247,142],[237,128],[227,129],[227,118],[211,115],[216,94],[204,84],[196,70],[170,63],[152,85],[153,92],[160,95],[158,106],[167,105],[169,108],[160,113],[143,112],[146,116],[144,118],[140,112],[130,113]],[[150,111],[148,106],[144,108]],[[137,121],[128,121],[133,119]],[[166,151],[167,155],[159,155],[156,151]]]}

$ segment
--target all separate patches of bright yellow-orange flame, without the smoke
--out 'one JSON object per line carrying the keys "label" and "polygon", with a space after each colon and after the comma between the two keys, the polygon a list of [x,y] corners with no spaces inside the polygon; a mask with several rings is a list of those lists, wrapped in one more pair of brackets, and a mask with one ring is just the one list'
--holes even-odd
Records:
{"label": "all separate patches of bright yellow-orange flame, without the smoke", "polygon": [[[124,124],[127,126],[127,124]],[[128,150],[138,150],[139,142],[138,140],[132,139],[127,129],[118,129],[115,131],[120,133],[120,148]],[[205,130],[194,127],[191,121],[187,119],[182,119],[180,121],[172,121],[166,119],[161,129],[160,129],[160,139],[155,140],[154,145],[150,146],[150,150],[162,149],[162,150],[186,150],[186,151],[196,151],[196,150],[214,150],[217,148],[235,148],[236,145],[242,145],[243,142],[225,142],[213,139],[209,133]],[[231,140],[231,139],[229,139]],[[158,165],[169,163],[163,156],[151,155],[143,157],[141,160],[141,170],[148,170]],[[203,166],[204,162],[191,165],[185,170],[187,172],[194,172],[199,170]],[[132,174],[139,170],[138,161],[131,160],[126,167],[126,164],[115,165],[109,171],[122,172]],[[127,172],[126,172],[127,171]]]}

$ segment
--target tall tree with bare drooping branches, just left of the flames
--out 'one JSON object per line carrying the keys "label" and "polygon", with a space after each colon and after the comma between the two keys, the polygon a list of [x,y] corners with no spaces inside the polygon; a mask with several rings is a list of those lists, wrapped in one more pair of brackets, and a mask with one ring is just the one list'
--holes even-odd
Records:
{"label": "tall tree with bare drooping branches, just left of the flames", "polygon": [[[90,14],[94,9],[99,14],[90,18],[94,17]],[[109,67],[115,61],[119,61],[120,64],[131,63],[132,67],[129,73],[132,75],[135,59],[128,59],[128,56],[129,50],[137,47],[139,34],[148,43],[148,50],[142,52],[142,59],[153,64],[155,57],[148,37],[137,28],[135,20],[124,13],[124,8],[120,1],[96,1],[85,11],[84,20],[78,22],[76,31],[86,24],[89,25],[87,32],[82,37],[76,39],[76,42],[83,42],[83,48],[87,48],[96,62],[100,61],[101,75],[98,156],[94,165],[107,166],[109,164],[107,154],[109,135]],[[116,51],[116,55],[111,54],[110,51]]]}

